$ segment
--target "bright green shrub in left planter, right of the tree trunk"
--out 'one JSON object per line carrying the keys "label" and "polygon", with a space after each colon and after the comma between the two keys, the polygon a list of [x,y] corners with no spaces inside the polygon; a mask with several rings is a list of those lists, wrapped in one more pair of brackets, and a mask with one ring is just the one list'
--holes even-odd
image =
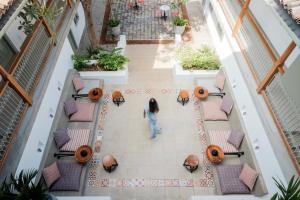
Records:
{"label": "bright green shrub in left planter, right of the tree trunk", "polygon": [[116,48],[112,51],[100,50],[97,55],[97,63],[101,65],[105,71],[123,69],[123,65],[128,63],[129,59],[120,53],[121,50],[122,48]]}

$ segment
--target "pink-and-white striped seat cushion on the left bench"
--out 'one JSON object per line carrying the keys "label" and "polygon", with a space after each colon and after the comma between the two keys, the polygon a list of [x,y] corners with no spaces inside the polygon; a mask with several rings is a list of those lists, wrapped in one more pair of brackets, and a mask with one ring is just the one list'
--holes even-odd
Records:
{"label": "pink-and-white striped seat cushion on the left bench", "polygon": [[76,151],[78,147],[88,144],[90,129],[68,129],[68,135],[71,138],[70,141],[62,146],[60,150]]}

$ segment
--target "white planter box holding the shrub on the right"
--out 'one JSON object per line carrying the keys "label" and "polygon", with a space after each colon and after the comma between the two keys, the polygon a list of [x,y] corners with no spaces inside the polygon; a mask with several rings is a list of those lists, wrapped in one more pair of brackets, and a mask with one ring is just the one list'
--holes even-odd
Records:
{"label": "white planter box holding the shrub on the right", "polygon": [[[221,68],[221,66],[220,66]],[[179,61],[174,60],[173,75],[176,82],[192,81],[195,78],[215,78],[219,70],[184,70]]]}

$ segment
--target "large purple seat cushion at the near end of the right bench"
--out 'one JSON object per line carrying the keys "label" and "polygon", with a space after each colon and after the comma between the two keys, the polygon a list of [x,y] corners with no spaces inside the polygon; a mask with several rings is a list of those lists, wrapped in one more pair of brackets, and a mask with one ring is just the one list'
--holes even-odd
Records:
{"label": "large purple seat cushion at the near end of the right bench", "polygon": [[249,194],[248,187],[239,179],[243,165],[217,166],[222,194]]}

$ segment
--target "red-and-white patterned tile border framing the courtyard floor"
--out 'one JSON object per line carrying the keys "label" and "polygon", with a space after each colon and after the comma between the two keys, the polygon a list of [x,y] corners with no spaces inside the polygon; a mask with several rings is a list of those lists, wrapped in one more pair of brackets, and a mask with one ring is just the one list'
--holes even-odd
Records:
{"label": "red-and-white patterned tile border framing the courtyard floor", "polygon": [[[98,122],[98,131],[96,137],[102,136],[105,126],[105,120],[109,111],[109,102],[111,101],[111,94],[115,89],[109,89],[103,95],[101,102],[101,110]],[[160,94],[178,94],[181,89],[178,88],[163,88],[163,89],[144,89],[144,88],[127,88],[120,89],[126,95],[142,95],[153,94],[159,92]],[[88,164],[88,187],[215,187],[213,168],[205,156],[205,149],[207,146],[204,123],[201,117],[201,102],[194,97],[193,90],[187,90],[191,96],[190,103],[193,104],[196,134],[199,136],[201,142],[201,153],[203,154],[203,164],[205,178],[199,179],[103,179],[97,176],[97,168],[102,167],[101,159],[94,154],[94,157]]]}

